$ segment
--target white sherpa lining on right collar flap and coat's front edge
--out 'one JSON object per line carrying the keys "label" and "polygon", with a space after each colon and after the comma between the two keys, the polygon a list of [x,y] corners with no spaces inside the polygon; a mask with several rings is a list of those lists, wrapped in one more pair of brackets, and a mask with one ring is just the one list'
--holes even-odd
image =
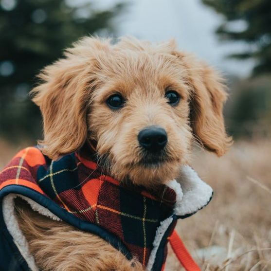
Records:
{"label": "white sherpa lining on right collar flap and coat's front edge", "polygon": [[[177,216],[185,216],[197,212],[210,201],[213,195],[211,186],[202,181],[196,171],[188,165],[183,165],[178,182],[176,180],[169,181],[167,186],[176,192],[176,203],[173,213]],[[156,230],[153,249],[147,264],[147,270],[149,271],[151,271],[155,262],[156,253],[163,235],[172,220],[173,217],[166,218]]]}

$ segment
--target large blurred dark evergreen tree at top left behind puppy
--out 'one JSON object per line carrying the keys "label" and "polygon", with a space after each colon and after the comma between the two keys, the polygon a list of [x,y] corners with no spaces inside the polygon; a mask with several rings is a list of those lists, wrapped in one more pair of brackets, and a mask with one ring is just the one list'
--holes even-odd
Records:
{"label": "large blurred dark evergreen tree at top left behind puppy", "polygon": [[[79,37],[114,33],[117,4],[97,10],[65,0],[0,0],[0,135],[10,139],[40,137],[39,109],[28,92],[35,75],[61,56]],[[69,5],[70,3],[70,5]]]}

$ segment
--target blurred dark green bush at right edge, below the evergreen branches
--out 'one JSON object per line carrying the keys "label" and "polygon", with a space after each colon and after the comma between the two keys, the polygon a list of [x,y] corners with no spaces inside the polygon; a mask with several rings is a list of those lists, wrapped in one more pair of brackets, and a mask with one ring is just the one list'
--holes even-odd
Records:
{"label": "blurred dark green bush at right edge, below the evergreen branches", "polygon": [[250,138],[271,135],[270,86],[270,76],[235,81],[225,110],[230,134]]}

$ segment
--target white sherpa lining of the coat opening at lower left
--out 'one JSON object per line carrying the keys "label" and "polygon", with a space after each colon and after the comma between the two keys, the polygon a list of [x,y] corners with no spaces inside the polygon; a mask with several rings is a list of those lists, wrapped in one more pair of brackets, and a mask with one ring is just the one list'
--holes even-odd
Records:
{"label": "white sherpa lining of the coat opening at lower left", "polygon": [[28,199],[27,197],[17,195],[17,194],[9,194],[3,199],[3,205],[2,205],[2,211],[3,211],[3,218],[5,221],[5,224],[7,226],[7,229],[10,233],[10,235],[13,237],[13,241],[16,244],[19,252],[27,262],[29,268],[32,271],[38,271],[38,268],[36,267],[36,263],[34,260],[33,255],[29,252],[28,243],[23,235],[23,233],[20,230],[16,215],[15,215],[15,206],[14,206],[14,199],[20,197],[24,200],[26,200],[31,208],[34,211],[37,211],[39,214],[50,217],[51,219],[60,221],[61,219],[59,217],[56,217],[52,212],[50,212],[48,209],[42,207],[32,199]]}

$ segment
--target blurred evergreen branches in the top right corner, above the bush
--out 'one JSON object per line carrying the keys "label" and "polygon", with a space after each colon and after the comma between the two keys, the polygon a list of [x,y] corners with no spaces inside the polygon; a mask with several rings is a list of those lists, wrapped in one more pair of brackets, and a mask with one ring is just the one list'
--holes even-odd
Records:
{"label": "blurred evergreen branches in the top right corner, above the bush", "polygon": [[271,73],[271,0],[201,1],[225,17],[217,28],[222,40],[248,44],[246,51],[230,57],[254,58],[257,63],[254,75]]}

